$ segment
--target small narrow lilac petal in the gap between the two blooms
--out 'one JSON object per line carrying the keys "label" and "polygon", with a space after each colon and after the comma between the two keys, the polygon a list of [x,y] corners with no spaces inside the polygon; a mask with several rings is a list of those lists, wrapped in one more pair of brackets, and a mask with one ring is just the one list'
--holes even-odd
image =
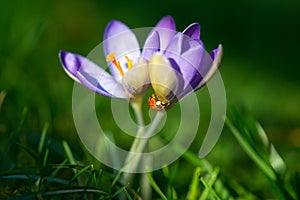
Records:
{"label": "small narrow lilac petal in the gap between the two blooms", "polygon": [[152,31],[145,41],[142,57],[149,60],[153,53],[159,51],[159,46],[160,41],[158,32]]}

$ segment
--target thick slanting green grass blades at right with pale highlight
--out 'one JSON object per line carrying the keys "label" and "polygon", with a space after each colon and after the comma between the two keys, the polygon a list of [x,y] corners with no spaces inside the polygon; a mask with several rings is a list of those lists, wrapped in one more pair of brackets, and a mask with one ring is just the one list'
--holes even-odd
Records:
{"label": "thick slanting green grass blades at right with pale highlight", "polygon": [[[267,180],[270,184],[270,188],[273,190],[274,194],[278,199],[296,199],[295,191],[291,190],[289,186],[291,185],[289,181],[284,180],[284,177],[287,175],[285,170],[285,163],[283,159],[279,156],[274,146],[269,142],[266,134],[262,132],[262,128],[258,123],[254,123],[253,127],[250,127],[249,124],[243,120],[241,116],[235,113],[235,121],[238,121],[238,127],[232,123],[229,118],[226,118],[225,123],[229,127],[230,131],[237,139],[238,143],[241,145],[245,153],[254,161],[258,168],[262,171],[263,174],[267,177]],[[252,132],[254,137],[260,139],[261,141],[249,141],[244,137],[242,133],[243,130],[247,130],[248,134],[251,136]],[[251,130],[251,131],[249,131]],[[259,137],[257,137],[257,135]],[[263,149],[261,146],[265,145],[265,151],[259,151],[258,149]],[[267,153],[264,153],[267,152]]]}

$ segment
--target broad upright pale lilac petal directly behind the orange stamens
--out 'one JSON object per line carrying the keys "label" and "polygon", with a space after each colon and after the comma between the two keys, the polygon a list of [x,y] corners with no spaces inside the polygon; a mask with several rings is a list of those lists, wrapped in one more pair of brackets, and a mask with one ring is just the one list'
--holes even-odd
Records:
{"label": "broad upright pale lilac petal directly behind the orange stamens", "polygon": [[[104,31],[104,54],[105,57],[112,52],[116,53],[116,60],[120,61],[124,73],[127,71],[128,56],[131,60],[136,60],[140,57],[140,46],[135,34],[120,21],[111,21],[106,26]],[[108,63],[110,71],[116,79],[121,80],[121,75],[117,68]]]}

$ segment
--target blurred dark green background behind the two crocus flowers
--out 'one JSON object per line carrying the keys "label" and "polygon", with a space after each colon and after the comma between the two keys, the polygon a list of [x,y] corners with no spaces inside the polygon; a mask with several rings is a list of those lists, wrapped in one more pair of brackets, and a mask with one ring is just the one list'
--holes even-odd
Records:
{"label": "blurred dark green background behind the two crocus flowers", "polygon": [[[72,118],[73,81],[60,65],[59,50],[87,55],[102,41],[104,28],[112,19],[138,28],[154,26],[161,17],[171,15],[178,31],[199,22],[208,50],[223,44],[220,72],[228,105],[254,116],[289,168],[300,169],[300,1],[0,2],[0,92],[6,92],[0,111],[0,148],[18,127],[26,107],[28,117],[19,139],[22,143],[36,145],[42,127],[49,122],[52,150],[59,154],[62,150],[57,143],[66,139],[77,159],[82,160]],[[207,99],[207,90],[197,95],[204,107],[205,127],[209,101],[202,99]],[[110,112],[109,100],[101,98],[104,103],[98,110],[102,112],[102,107],[104,113]],[[113,119],[108,117],[107,123],[109,120]],[[193,144],[195,152],[199,142]],[[1,153],[6,151],[1,149]],[[13,150],[8,155],[11,162],[7,157],[2,159],[2,169],[22,166],[13,164],[15,160],[30,165],[30,161],[18,159]],[[249,173],[253,165],[226,128],[209,158],[229,176],[248,181],[253,176]],[[55,163],[61,158],[51,159]]]}

